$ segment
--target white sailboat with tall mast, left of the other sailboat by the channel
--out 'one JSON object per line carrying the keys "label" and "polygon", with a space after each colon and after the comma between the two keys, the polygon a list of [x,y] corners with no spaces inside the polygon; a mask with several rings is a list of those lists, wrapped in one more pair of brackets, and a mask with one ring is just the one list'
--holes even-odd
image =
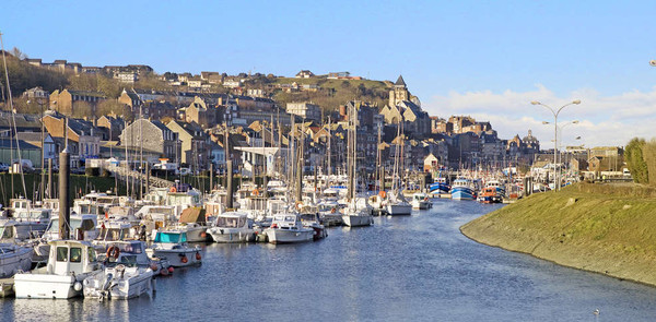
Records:
{"label": "white sailboat with tall mast, left of the other sailboat by the channel", "polygon": [[349,135],[348,135],[348,162],[349,162],[349,203],[343,210],[342,222],[349,227],[370,226],[374,224],[372,208],[367,205],[366,199],[356,198],[356,176],[358,176],[358,115],[353,104],[349,110]]}

